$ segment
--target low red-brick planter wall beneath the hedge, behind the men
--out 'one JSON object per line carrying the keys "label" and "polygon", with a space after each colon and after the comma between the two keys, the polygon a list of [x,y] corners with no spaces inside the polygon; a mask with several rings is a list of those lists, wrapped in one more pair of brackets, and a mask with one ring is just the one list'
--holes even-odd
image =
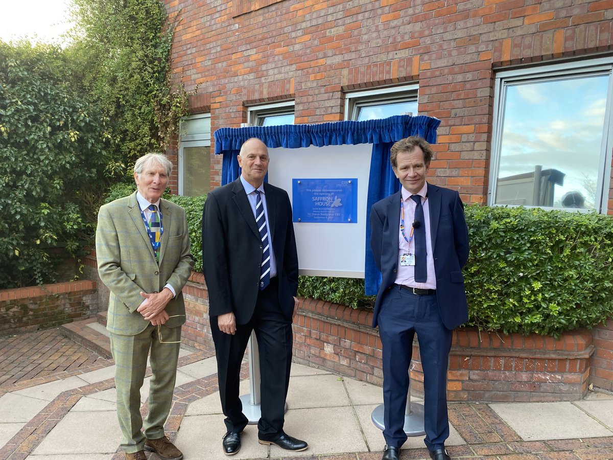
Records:
{"label": "low red-brick planter wall beneath the hedge, behind the men", "polygon": [[[208,294],[202,274],[183,289],[187,322],[183,340],[215,350],[208,323]],[[294,361],[383,384],[381,340],[370,327],[372,313],[329,302],[302,299],[294,320]],[[594,331],[549,336],[454,331],[447,374],[450,401],[572,401],[590,383],[613,386],[613,321]],[[417,341],[413,347],[413,393],[423,394]],[[591,370],[591,372],[590,372]],[[604,371],[604,372],[603,372]]]}

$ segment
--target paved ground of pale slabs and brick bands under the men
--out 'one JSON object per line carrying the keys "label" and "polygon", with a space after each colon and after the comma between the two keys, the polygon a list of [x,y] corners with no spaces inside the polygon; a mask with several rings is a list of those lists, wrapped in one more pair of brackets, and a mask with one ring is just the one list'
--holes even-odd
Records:
{"label": "paved ground of pale slabs and brick bands under the men", "polygon": [[[4,382],[0,385],[0,447],[4,446],[0,460],[123,459],[118,452],[112,361],[77,345],[94,343],[101,355],[107,355],[104,326],[95,320],[67,326],[62,333],[71,334],[71,340],[58,342],[58,330],[0,338],[0,378]],[[7,363],[23,364],[39,353],[34,350],[45,352],[25,374],[28,366]],[[29,358],[16,359],[20,353],[30,353]],[[52,370],[43,357],[59,367]],[[35,369],[39,369],[37,375]],[[242,389],[248,393],[246,366],[243,369]],[[227,458],[221,451],[225,429],[215,372],[215,357],[210,353],[181,350],[166,431],[186,460]],[[147,391],[148,379],[141,393],[143,412]],[[295,364],[285,427],[289,434],[307,440],[310,448],[287,453],[263,446],[257,443],[256,427],[248,426],[242,450],[232,458],[379,460],[384,441],[370,415],[381,400],[377,386]],[[574,402],[452,403],[449,415],[452,427],[447,449],[452,458],[613,459],[610,395],[590,393]],[[148,458],[157,460],[158,456],[148,454]],[[428,459],[423,437],[409,438],[401,459]]]}

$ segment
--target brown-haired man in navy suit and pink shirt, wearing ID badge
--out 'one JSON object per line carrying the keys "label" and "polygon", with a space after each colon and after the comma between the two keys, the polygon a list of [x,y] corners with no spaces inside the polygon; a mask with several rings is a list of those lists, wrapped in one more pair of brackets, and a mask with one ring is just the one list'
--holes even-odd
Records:
{"label": "brown-haired man in navy suit and pink shirt, wearing ID badge", "polygon": [[425,182],[430,145],[416,136],[392,146],[390,161],[402,188],[373,205],[370,245],[383,280],[373,315],[383,344],[383,460],[398,460],[413,337],[424,369],[425,445],[448,460],[447,365],[451,333],[468,320],[462,267],[468,228],[457,191]]}

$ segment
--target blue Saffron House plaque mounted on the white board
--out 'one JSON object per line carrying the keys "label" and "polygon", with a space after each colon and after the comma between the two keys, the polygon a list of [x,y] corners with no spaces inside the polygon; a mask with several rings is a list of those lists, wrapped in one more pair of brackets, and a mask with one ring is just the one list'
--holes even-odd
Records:
{"label": "blue Saffron House plaque mounted on the white board", "polygon": [[357,223],[357,178],[292,179],[294,222]]}

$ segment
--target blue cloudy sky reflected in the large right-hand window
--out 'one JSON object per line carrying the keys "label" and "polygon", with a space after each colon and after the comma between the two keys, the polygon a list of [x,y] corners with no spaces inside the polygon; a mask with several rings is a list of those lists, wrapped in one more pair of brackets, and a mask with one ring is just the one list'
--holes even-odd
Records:
{"label": "blue cloudy sky reflected in the large right-hand window", "polygon": [[508,86],[498,177],[539,164],[566,175],[554,202],[572,190],[587,197],[586,178],[598,181],[608,84],[600,75]]}

